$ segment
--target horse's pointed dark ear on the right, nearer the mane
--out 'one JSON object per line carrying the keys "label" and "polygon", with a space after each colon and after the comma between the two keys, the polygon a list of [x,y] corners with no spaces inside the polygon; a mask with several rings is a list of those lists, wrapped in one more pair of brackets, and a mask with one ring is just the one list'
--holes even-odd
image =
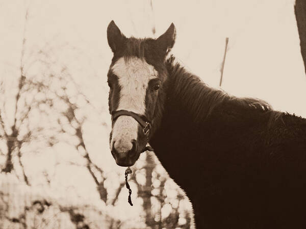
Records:
{"label": "horse's pointed dark ear on the right, nearer the mane", "polygon": [[170,49],[173,47],[175,42],[175,36],[176,36],[175,26],[173,23],[171,23],[168,30],[158,39],[156,39],[158,47],[162,49],[164,54],[167,54],[170,51]]}

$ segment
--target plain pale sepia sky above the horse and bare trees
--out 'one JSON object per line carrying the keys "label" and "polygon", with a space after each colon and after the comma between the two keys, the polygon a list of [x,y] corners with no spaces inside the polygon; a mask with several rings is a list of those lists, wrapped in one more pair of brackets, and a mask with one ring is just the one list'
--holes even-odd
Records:
{"label": "plain pale sepia sky above the horse and bare trees", "polygon": [[[174,22],[177,37],[172,52],[203,81],[218,87],[228,37],[222,89],[306,117],[306,77],[293,6],[293,0],[152,1],[152,8],[150,1],[1,1],[0,73],[18,76],[24,13],[29,7],[25,57],[46,42],[78,48],[82,58],[70,63],[70,70],[99,106],[106,102],[100,93],[108,90],[106,72],[112,56],[106,40],[108,23],[115,20],[127,37],[157,37]],[[59,58],[73,59],[69,47],[56,50]]]}

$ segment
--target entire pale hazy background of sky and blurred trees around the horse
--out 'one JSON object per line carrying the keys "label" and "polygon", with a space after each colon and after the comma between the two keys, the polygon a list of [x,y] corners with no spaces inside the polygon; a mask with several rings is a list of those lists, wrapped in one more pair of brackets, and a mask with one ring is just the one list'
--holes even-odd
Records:
{"label": "entire pale hazy background of sky and blurred trees around the horse", "polygon": [[135,206],[127,203],[124,168],[108,145],[107,25],[158,37],[173,22],[172,53],[213,87],[228,37],[222,89],[306,117],[293,6],[0,0],[0,227],[188,228],[188,200],[145,154],[130,181]]}

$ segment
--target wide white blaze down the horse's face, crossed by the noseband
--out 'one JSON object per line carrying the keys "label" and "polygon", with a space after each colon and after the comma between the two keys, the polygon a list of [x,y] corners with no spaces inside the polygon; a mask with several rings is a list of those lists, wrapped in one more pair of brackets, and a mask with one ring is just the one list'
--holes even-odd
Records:
{"label": "wide white blaze down the horse's face, crossed by the noseband", "polygon": [[[120,58],[112,67],[118,77],[120,98],[117,110],[129,110],[140,115],[145,113],[145,95],[150,79],[157,77],[152,65],[139,58],[125,61]],[[137,140],[138,122],[130,116],[120,116],[112,130],[111,146],[124,153],[132,149],[132,140]]]}

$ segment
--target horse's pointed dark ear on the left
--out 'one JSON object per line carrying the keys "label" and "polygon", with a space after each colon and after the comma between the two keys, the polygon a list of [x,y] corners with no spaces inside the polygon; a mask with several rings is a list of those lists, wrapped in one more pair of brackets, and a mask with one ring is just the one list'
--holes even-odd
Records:
{"label": "horse's pointed dark ear on the left", "polygon": [[112,51],[118,51],[125,39],[126,37],[121,33],[114,20],[112,20],[107,27],[107,41]]}

